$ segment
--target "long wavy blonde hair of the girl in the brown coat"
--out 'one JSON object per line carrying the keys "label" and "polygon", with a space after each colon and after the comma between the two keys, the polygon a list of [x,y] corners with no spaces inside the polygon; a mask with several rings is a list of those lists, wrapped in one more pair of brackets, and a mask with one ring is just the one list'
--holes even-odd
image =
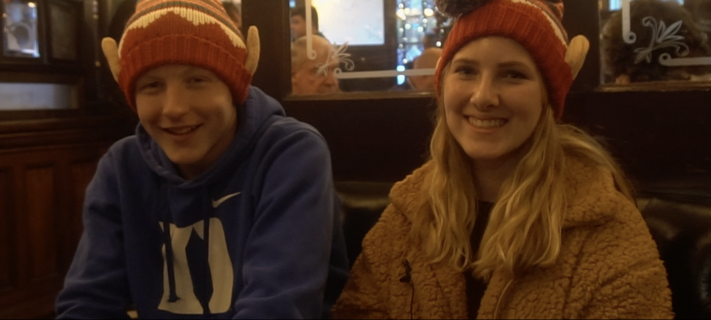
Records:
{"label": "long wavy blonde hair of the girl in the brown coat", "polygon": [[[449,65],[443,71],[440,83],[444,84]],[[530,139],[521,146],[523,158],[501,186],[480,248],[470,244],[476,223],[471,158],[449,131],[443,90],[439,90],[437,120],[429,146],[433,162],[427,176],[429,201],[415,215],[411,234],[432,263],[444,262],[461,272],[471,269],[486,281],[494,270],[513,275],[552,265],[560,252],[567,210],[565,172],[571,157],[611,171],[619,191],[633,199],[616,161],[581,129],[556,124],[545,98],[545,86],[542,90],[544,107],[540,120]]]}

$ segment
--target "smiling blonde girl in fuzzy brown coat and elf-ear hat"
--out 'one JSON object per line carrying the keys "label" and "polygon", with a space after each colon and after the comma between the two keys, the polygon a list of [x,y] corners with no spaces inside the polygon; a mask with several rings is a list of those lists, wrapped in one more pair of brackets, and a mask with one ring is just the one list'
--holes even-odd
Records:
{"label": "smiling blonde girl in fuzzy brown coat and elf-ear hat", "polygon": [[587,53],[562,1],[438,1],[431,160],[390,191],[336,318],[671,319],[624,174],[560,124]]}

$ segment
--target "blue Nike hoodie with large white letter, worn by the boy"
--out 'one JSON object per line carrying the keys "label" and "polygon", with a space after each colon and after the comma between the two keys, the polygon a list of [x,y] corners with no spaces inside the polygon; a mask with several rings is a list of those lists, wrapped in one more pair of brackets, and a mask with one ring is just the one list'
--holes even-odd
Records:
{"label": "blue Nike hoodie with large white letter, worn by the boy", "polygon": [[348,277],[328,146],[256,87],[237,121],[192,181],[140,124],[109,149],[58,318],[126,318],[132,305],[148,319],[328,314]]}

